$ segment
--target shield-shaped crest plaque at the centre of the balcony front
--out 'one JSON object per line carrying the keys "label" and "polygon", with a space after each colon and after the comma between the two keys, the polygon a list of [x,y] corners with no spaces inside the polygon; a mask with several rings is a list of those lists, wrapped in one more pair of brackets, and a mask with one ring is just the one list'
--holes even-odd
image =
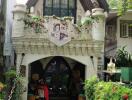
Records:
{"label": "shield-shaped crest plaque at the centre of the balcony front", "polygon": [[52,23],[51,30],[52,31],[49,32],[50,41],[55,43],[57,46],[62,46],[71,40],[66,22]]}

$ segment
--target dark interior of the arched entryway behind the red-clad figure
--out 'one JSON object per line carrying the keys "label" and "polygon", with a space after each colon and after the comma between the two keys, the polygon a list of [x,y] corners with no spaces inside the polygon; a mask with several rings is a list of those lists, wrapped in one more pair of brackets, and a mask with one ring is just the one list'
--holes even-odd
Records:
{"label": "dark interior of the arched entryway behind the red-clad figure", "polygon": [[[73,96],[82,93],[85,65],[73,59],[54,56],[30,64],[29,83],[35,78],[46,80],[50,100],[76,100]],[[71,98],[73,97],[73,98]]]}

